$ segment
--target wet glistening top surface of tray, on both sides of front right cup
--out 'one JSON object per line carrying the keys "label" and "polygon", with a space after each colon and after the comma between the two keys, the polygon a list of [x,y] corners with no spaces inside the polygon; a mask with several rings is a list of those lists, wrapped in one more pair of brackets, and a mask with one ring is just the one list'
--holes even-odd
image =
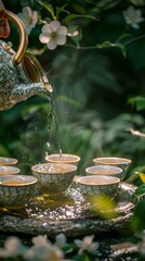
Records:
{"label": "wet glistening top surface of tray, on both sides of front right cup", "polygon": [[[134,208],[131,196],[134,192],[128,184],[122,183],[116,197],[117,215],[123,215]],[[21,217],[48,216],[50,220],[74,220],[74,219],[97,219],[98,213],[91,211],[90,202],[87,202],[78,188],[70,187],[66,194],[61,195],[37,195],[30,202],[21,209],[6,209],[0,207],[2,214],[16,215]]]}

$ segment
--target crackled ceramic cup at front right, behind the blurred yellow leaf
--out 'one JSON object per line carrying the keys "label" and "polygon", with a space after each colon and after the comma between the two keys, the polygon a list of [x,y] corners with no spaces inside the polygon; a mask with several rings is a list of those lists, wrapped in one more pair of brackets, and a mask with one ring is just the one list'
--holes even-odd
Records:
{"label": "crackled ceramic cup at front right, behind the blurred yellow leaf", "polygon": [[79,177],[77,183],[83,196],[105,195],[114,199],[118,191],[120,178],[115,176],[90,175]]}

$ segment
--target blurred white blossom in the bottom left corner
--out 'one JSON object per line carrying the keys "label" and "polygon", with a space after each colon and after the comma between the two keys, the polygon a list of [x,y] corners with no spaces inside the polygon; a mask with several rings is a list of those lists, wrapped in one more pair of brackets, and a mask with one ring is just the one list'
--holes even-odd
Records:
{"label": "blurred white blossom in the bottom left corner", "polygon": [[4,248],[0,248],[0,258],[18,257],[27,250],[28,247],[24,246],[17,237],[9,237],[4,241]]}

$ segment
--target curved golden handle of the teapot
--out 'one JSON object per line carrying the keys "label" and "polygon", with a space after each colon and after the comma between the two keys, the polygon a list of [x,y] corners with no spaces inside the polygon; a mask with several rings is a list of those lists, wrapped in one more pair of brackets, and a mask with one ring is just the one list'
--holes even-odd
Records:
{"label": "curved golden handle of the teapot", "polygon": [[19,45],[18,45],[18,49],[16,51],[16,53],[13,57],[12,63],[14,66],[18,65],[26,52],[27,49],[27,45],[28,45],[28,36],[26,34],[26,29],[25,26],[23,24],[23,22],[21,21],[21,18],[15,15],[14,13],[5,10],[5,18],[10,20],[11,22],[13,22],[19,33]]}

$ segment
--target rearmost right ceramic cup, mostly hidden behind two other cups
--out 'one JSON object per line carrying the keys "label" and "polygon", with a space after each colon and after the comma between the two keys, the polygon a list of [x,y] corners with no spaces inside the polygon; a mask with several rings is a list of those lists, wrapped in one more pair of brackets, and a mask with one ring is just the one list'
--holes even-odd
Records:
{"label": "rearmost right ceramic cup, mostly hidden behind two other cups", "polygon": [[122,170],[121,181],[126,177],[129,165],[131,164],[131,160],[127,158],[119,157],[101,157],[93,159],[93,163],[95,165],[111,165],[117,166]]}

